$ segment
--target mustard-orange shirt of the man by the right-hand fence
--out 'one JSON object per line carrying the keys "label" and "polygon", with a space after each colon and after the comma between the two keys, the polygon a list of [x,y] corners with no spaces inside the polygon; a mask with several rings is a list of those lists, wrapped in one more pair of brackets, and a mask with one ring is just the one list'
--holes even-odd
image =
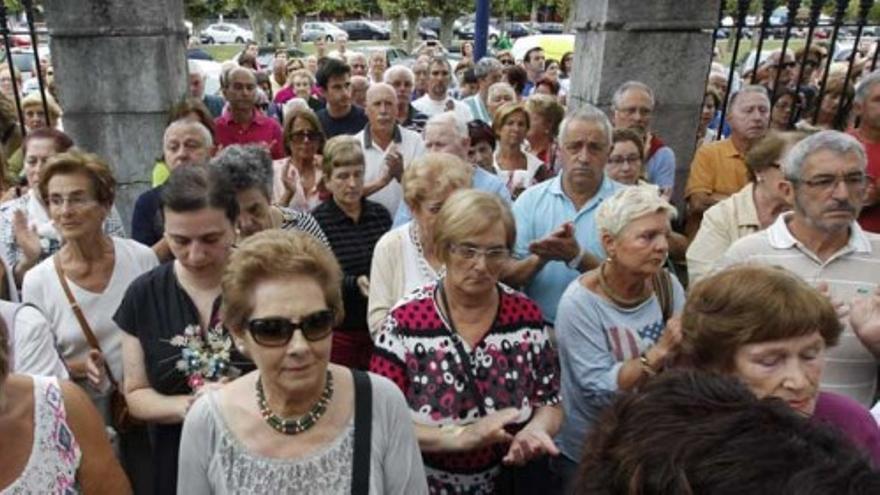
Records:
{"label": "mustard-orange shirt of the man by the right-hand fence", "polygon": [[700,146],[691,163],[685,197],[694,193],[731,194],[748,183],[748,169],[733,141],[724,139]]}

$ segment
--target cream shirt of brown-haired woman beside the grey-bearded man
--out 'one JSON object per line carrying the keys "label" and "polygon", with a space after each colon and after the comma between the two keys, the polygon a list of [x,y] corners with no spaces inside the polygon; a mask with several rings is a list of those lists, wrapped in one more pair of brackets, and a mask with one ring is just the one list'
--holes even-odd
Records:
{"label": "cream shirt of brown-haired woman beside the grey-bearded man", "polygon": [[700,230],[687,250],[688,278],[691,283],[708,275],[712,265],[737,239],[761,230],[751,182],[733,196],[706,210]]}

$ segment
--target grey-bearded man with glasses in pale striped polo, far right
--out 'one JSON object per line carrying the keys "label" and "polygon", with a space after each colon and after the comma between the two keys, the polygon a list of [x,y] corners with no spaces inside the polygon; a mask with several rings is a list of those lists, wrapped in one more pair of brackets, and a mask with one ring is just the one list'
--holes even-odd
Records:
{"label": "grey-bearded man with glasses in pale striped polo, far right", "polygon": [[[880,236],[864,232],[856,222],[864,204],[866,163],[862,145],[842,132],[822,131],[796,144],[783,160],[786,182],[781,185],[794,211],[735,242],[716,268],[746,262],[785,268],[826,291],[839,314],[856,298],[876,297]],[[823,390],[871,407],[877,356],[848,323],[840,343],[826,352]],[[807,385],[784,386],[797,392]]]}

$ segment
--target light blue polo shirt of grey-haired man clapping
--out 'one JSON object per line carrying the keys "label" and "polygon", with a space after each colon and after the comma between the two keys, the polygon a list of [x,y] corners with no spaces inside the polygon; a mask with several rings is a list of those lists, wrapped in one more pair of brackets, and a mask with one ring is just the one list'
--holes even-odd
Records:
{"label": "light blue polo shirt of grey-haired man clapping", "polygon": [[[565,222],[573,222],[574,235],[581,248],[604,259],[605,250],[596,229],[596,210],[621,187],[605,177],[596,195],[580,211],[562,190],[562,174],[526,189],[513,204],[516,218],[514,256],[518,259],[528,257],[529,243],[546,237]],[[567,267],[564,262],[551,261],[526,285],[525,293],[541,306],[544,318],[552,324],[556,321],[556,306],[562,293],[578,275],[577,270]]]}

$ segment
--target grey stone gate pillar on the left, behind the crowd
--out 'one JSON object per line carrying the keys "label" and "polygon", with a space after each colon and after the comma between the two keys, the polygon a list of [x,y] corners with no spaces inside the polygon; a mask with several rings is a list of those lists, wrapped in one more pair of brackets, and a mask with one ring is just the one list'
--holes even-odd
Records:
{"label": "grey stone gate pillar on the left, behind the crowd", "polygon": [[[182,0],[44,0],[64,130],[108,160],[126,231],[187,91]],[[130,234],[130,232],[129,232]]]}

